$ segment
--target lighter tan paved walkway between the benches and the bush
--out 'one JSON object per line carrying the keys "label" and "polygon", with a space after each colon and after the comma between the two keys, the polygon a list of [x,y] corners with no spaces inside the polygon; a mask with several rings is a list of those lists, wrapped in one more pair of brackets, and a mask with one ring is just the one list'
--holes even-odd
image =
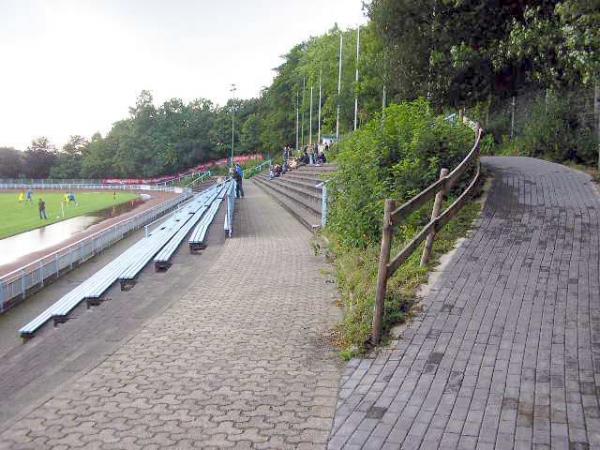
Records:
{"label": "lighter tan paved walkway between the benches and the bush", "polygon": [[208,273],[0,448],[324,448],[343,367],[309,233],[249,183]]}

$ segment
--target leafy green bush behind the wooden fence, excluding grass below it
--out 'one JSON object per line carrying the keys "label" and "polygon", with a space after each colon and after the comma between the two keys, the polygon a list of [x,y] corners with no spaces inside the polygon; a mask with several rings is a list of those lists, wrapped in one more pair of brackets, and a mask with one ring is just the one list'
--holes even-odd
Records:
{"label": "leafy green bush behind the wooden fence, excluding grass below it", "polygon": [[[341,246],[379,241],[383,201],[406,201],[453,169],[473,145],[473,131],[436,116],[424,100],[392,105],[340,144],[328,227]],[[420,219],[416,219],[418,224]],[[409,227],[410,227],[409,223]]]}

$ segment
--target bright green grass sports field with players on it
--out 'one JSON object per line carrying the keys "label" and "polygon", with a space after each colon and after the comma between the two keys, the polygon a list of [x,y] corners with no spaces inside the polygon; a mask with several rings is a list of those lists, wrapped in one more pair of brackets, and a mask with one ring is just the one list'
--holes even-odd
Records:
{"label": "bright green grass sports field with players on it", "polygon": [[[18,192],[0,193],[0,239],[13,236],[24,231],[33,230],[71,217],[93,213],[114,205],[128,202],[137,198],[137,194],[118,192],[113,198],[112,192],[75,192],[78,206],[64,204],[64,217],[62,216],[61,202],[64,192],[34,191],[33,202],[19,203]],[[46,202],[46,215],[48,220],[40,219],[38,199]]]}

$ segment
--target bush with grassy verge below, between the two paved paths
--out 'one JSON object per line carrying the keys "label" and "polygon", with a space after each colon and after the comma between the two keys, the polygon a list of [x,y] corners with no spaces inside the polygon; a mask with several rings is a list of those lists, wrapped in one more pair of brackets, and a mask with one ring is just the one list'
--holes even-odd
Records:
{"label": "bush with grassy verge below, between the two paved paths", "polygon": [[[344,318],[337,337],[343,357],[364,350],[371,334],[384,199],[402,202],[413,197],[438,178],[442,167],[456,167],[473,142],[471,129],[446,122],[427,102],[418,100],[390,106],[384,122],[378,117],[336,146],[338,169],[331,182],[333,199],[325,233],[342,296]],[[457,189],[463,186],[459,183]],[[392,255],[429,221],[431,204],[396,229]],[[467,205],[442,229],[434,243],[432,265],[465,235],[478,210],[478,205]],[[417,287],[427,281],[429,269],[420,267],[420,253],[421,249],[414,252],[388,282],[385,330],[405,320]]]}

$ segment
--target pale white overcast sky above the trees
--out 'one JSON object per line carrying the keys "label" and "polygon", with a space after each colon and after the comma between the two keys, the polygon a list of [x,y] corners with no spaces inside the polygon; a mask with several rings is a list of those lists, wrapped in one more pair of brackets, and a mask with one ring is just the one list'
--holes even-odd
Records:
{"label": "pale white overcast sky above the trees", "polygon": [[0,147],[104,135],[142,89],[255,97],[295,44],[366,20],[362,0],[0,0]]}

